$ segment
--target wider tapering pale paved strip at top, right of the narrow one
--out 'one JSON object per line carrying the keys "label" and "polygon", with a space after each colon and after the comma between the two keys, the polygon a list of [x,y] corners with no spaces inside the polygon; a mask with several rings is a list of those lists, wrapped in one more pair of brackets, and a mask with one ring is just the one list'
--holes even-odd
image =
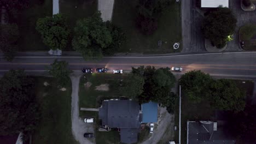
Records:
{"label": "wider tapering pale paved strip at top, right of the narrow one", "polygon": [[111,21],[114,8],[114,0],[98,0],[98,10],[101,11],[103,21]]}

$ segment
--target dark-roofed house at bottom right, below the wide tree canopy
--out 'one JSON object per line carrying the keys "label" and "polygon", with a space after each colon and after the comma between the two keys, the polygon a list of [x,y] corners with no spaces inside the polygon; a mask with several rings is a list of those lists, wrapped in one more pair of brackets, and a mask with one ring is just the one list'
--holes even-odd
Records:
{"label": "dark-roofed house at bottom right, below the wide tree canopy", "polygon": [[235,142],[217,122],[187,122],[187,144],[234,144]]}

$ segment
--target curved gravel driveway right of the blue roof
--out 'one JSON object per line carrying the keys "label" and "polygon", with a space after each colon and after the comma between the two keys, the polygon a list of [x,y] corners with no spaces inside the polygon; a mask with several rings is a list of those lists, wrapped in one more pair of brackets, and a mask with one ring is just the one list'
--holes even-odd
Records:
{"label": "curved gravel driveway right of the blue roof", "polygon": [[174,127],[174,115],[166,111],[164,107],[158,107],[159,120],[156,123],[153,134],[143,144],[164,142],[172,139]]}

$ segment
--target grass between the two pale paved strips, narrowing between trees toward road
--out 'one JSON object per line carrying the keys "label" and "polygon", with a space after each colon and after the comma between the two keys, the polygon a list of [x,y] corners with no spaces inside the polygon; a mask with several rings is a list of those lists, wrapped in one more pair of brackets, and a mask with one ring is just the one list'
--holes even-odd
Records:
{"label": "grass between the two pale paved strips, narrowing between trees toward road", "polygon": [[60,0],[60,13],[67,16],[68,25],[71,28],[71,37],[66,51],[73,51],[71,41],[77,20],[92,16],[96,11],[97,0]]}

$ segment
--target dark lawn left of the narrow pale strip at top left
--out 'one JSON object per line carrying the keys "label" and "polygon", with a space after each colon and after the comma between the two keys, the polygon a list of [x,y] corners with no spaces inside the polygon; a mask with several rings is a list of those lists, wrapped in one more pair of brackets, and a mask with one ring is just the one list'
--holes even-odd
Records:
{"label": "dark lawn left of the narrow pale strip at top left", "polygon": [[49,50],[36,31],[36,22],[40,17],[51,15],[53,15],[53,1],[51,0],[33,0],[29,8],[20,11],[17,21],[20,31],[19,51]]}

